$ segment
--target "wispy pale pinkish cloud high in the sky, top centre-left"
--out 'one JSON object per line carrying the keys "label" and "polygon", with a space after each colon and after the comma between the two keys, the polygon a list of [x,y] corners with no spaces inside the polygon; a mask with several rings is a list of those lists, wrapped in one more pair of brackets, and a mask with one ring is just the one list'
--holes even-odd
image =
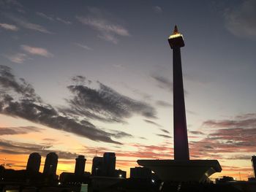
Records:
{"label": "wispy pale pinkish cloud high in the sky, top centre-left", "polygon": [[83,23],[83,25],[89,26],[95,31],[98,31],[99,38],[113,42],[114,44],[118,43],[117,37],[130,36],[127,28],[107,20],[106,18],[108,18],[108,14],[100,11],[97,8],[89,9],[89,15],[86,17],[77,16],[76,18],[78,21],[80,21],[80,23]]}

